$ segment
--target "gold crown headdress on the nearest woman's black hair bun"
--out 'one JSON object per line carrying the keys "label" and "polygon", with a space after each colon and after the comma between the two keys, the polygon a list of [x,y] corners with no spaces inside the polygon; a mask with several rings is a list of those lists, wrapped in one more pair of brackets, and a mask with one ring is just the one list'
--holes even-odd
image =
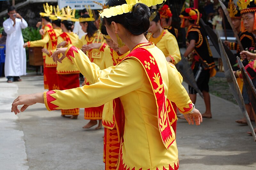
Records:
{"label": "gold crown headdress on the nearest woman's black hair bun", "polygon": [[104,4],[103,10],[100,11],[100,17],[101,18],[110,18],[112,16],[116,15],[121,15],[123,13],[128,13],[132,11],[133,5],[137,3],[142,3],[147,5],[148,7],[157,5],[157,4],[162,4],[163,1],[166,0],[126,0],[127,4],[122,4],[122,5],[117,5],[117,6],[112,6],[109,7]]}

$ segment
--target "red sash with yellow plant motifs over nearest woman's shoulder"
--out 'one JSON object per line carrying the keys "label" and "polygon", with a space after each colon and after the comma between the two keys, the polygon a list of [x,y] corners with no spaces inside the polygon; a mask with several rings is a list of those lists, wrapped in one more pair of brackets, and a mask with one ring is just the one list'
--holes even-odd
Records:
{"label": "red sash with yellow plant motifs over nearest woman's shoulder", "polygon": [[[171,125],[166,108],[166,97],[164,96],[164,84],[156,60],[153,55],[144,48],[137,48],[133,50],[124,59],[126,58],[136,58],[147,73],[148,80],[156,98],[159,132],[165,148],[168,149],[169,146],[174,142],[175,136],[171,131]],[[116,129],[119,134],[118,139],[120,142],[124,134],[124,109],[120,98],[114,99],[113,106]],[[171,110],[174,112],[173,109]]]}

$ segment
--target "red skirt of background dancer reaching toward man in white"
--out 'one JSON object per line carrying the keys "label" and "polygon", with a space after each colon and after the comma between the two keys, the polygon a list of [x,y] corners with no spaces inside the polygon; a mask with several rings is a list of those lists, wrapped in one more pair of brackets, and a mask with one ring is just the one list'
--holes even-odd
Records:
{"label": "red skirt of background dancer reaching toward man in white", "polygon": [[46,75],[49,90],[59,90],[56,67],[45,67],[44,74]]}

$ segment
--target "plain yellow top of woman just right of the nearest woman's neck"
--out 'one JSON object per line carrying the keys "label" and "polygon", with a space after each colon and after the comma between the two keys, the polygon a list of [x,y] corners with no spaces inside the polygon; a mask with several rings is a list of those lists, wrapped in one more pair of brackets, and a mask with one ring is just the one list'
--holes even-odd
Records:
{"label": "plain yellow top of woman just right of the nearest woman's neck", "polygon": [[163,51],[165,57],[171,58],[171,63],[177,64],[181,60],[178,42],[167,29],[164,29],[157,38],[154,38],[150,33],[147,38],[149,42],[154,43],[156,47]]}

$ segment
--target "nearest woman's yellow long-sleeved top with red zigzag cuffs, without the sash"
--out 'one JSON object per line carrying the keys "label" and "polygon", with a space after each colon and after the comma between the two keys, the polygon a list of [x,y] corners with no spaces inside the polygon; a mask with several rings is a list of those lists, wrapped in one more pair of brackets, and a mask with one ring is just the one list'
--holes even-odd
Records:
{"label": "nearest woman's yellow long-sleeved top with red zigzag cuffs, without the sash", "polygon": [[[137,47],[141,47],[140,45]],[[148,50],[155,58],[163,79],[164,96],[175,102],[183,114],[190,112],[192,109],[186,108],[190,108],[192,102],[181,85],[181,75],[175,66],[163,60],[163,52],[154,44],[141,48]],[[44,92],[46,108],[97,107],[119,97],[125,115],[122,145],[122,162],[125,166],[130,169],[163,169],[170,165],[174,169],[178,164],[176,142],[174,140],[166,150],[161,140],[156,99],[141,63],[135,58],[128,58],[117,66],[100,70],[82,50],[69,46],[65,54],[67,53],[81,73],[86,75],[86,72],[90,72],[86,78],[96,83],[75,89]],[[172,133],[174,134],[173,130]]]}

